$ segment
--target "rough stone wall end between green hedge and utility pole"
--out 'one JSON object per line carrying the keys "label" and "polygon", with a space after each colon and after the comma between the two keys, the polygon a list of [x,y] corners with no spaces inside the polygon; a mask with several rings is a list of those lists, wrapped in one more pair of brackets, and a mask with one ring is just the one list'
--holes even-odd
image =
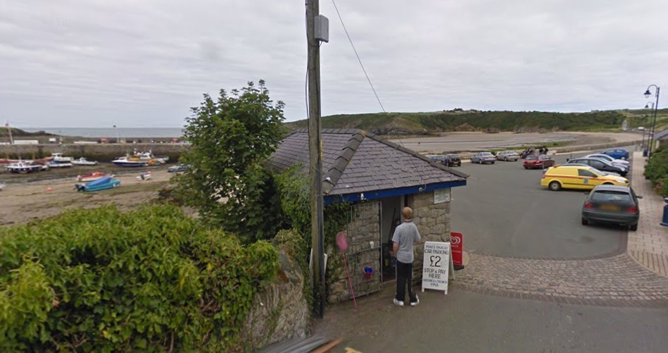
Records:
{"label": "rough stone wall end between green hedge and utility pole", "polygon": [[279,263],[277,278],[253,297],[241,329],[242,340],[253,349],[306,334],[308,304],[303,295],[303,274],[283,251],[279,251]]}

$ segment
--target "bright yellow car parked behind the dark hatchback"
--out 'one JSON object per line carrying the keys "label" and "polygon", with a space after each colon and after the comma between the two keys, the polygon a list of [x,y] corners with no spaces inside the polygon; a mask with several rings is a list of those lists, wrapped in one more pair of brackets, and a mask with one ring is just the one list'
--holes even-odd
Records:
{"label": "bright yellow car parked behind the dark hatchback", "polygon": [[541,185],[550,190],[584,189],[591,190],[596,185],[629,186],[629,179],[612,175],[590,166],[554,166],[543,173]]}

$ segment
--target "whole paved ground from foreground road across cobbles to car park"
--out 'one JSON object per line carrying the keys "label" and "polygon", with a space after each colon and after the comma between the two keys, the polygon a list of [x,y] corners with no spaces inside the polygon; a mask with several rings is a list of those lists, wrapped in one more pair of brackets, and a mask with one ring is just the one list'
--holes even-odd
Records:
{"label": "whole paved ground from foreground road across cobbles to car park", "polygon": [[620,253],[623,230],[581,226],[582,192],[543,190],[519,163],[462,171],[453,230],[472,254],[450,293],[399,308],[389,285],[358,312],[329,307],[315,333],[345,337],[334,352],[665,352],[668,278]]}

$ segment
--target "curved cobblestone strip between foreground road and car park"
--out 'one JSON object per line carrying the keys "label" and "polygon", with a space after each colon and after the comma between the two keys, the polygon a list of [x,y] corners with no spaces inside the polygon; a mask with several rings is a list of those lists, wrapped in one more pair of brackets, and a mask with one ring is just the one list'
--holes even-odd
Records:
{"label": "curved cobblestone strip between foreground road and car park", "polygon": [[470,254],[455,288],[517,299],[599,306],[668,306],[668,278],[627,254],[607,259],[536,260]]}

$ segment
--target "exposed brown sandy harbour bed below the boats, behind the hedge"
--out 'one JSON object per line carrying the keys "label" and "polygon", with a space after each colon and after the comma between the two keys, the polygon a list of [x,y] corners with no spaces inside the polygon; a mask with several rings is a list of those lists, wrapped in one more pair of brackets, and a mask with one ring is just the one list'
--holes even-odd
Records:
{"label": "exposed brown sandy harbour bed below the boats, behind the hedge", "polygon": [[137,180],[136,173],[119,175],[119,187],[100,192],[77,192],[74,178],[8,184],[0,191],[0,225],[25,223],[55,216],[65,209],[92,208],[113,203],[121,209],[157,199],[172,173],[151,171],[149,180]]}

